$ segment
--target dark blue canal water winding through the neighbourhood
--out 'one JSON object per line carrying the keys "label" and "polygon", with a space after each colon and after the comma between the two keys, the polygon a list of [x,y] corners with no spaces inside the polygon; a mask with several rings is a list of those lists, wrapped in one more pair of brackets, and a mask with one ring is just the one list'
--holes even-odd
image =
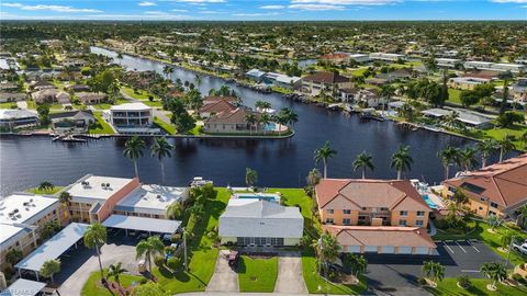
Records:
{"label": "dark blue canal water winding through the neighbourhood", "polygon": [[[116,59],[115,53],[98,47],[92,47],[92,52],[114,57],[116,62],[130,70],[162,72],[165,66],[126,55]],[[171,79],[178,78],[183,82],[193,82],[195,73],[175,68]],[[199,89],[203,94],[225,83],[209,76],[201,76],[201,81]],[[170,139],[175,150],[171,158],[164,160],[169,185],[187,184],[195,175],[212,179],[218,185],[242,185],[246,168],[251,168],[258,171],[259,185],[303,186],[305,175],[315,166],[313,151],[326,140],[337,150],[328,164],[332,178],[360,178],[360,172],[354,172],[351,163],[358,153],[368,151],[373,156],[375,169],[367,175],[393,179],[396,173],[390,168],[391,156],[400,145],[408,145],[414,163],[405,177],[434,184],[442,180],[444,173],[437,151],[447,145],[472,144],[456,136],[422,129],[406,130],[388,121],[361,121],[357,115],[291,102],[276,93],[259,93],[235,84],[229,87],[239,93],[246,105],[254,106],[257,100],[264,100],[276,110],[294,110],[299,114],[299,123],[294,126],[296,134],[284,140]],[[65,185],[87,173],[133,177],[133,164],[123,157],[123,146],[124,139],[115,138],[65,144],[53,143],[47,137],[2,137],[0,192],[5,195],[42,181]],[[145,150],[138,166],[142,182],[159,182],[159,164],[148,150]]]}

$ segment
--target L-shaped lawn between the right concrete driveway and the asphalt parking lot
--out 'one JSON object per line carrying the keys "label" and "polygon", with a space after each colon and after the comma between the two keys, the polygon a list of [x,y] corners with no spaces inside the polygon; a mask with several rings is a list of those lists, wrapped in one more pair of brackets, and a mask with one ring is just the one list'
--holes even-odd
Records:
{"label": "L-shaped lawn between the right concrete driveway and the asphalt parking lot", "polygon": [[[313,250],[302,252],[302,272],[305,286],[311,294],[346,294],[358,295],[366,291],[366,278],[360,276],[359,285],[336,285],[318,275]],[[318,287],[322,289],[319,291]]]}

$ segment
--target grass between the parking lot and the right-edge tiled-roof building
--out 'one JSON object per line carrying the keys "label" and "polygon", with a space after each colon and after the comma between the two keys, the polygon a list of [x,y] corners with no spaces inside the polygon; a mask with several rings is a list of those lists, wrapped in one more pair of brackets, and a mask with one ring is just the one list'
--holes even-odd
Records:
{"label": "grass between the parking lot and the right-edge tiled-roof building", "polygon": [[[464,235],[448,235],[448,234],[441,234],[438,232],[436,236],[433,237],[434,240],[451,240],[451,239],[478,239],[480,241],[483,241],[489,248],[491,248],[495,253],[497,253],[500,257],[506,259],[507,253],[501,252],[497,250],[498,247],[502,247],[502,236],[503,234],[507,231],[514,232],[518,237],[527,237],[526,235],[523,235],[518,230],[513,230],[508,229],[505,227],[498,227],[496,228],[497,234],[492,234],[489,232],[487,229],[490,228],[486,223],[483,221],[475,221],[471,224],[473,225],[473,230],[469,234]],[[516,254],[515,252],[511,253],[511,262],[513,264],[519,264],[524,262],[525,260],[519,257],[519,254]],[[482,262],[483,263],[483,262]]]}

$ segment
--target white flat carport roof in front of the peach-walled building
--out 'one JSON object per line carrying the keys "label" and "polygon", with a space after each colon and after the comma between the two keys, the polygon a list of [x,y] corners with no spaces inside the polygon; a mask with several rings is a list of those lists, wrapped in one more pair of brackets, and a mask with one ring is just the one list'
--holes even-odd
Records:
{"label": "white flat carport roof in front of the peach-walled building", "polygon": [[136,216],[124,216],[124,215],[112,215],[108,217],[102,223],[105,227],[124,229],[126,235],[128,230],[138,230],[156,234],[176,234],[180,226],[181,221],[178,220],[166,220],[166,219],[156,219],[147,217],[136,217]]}

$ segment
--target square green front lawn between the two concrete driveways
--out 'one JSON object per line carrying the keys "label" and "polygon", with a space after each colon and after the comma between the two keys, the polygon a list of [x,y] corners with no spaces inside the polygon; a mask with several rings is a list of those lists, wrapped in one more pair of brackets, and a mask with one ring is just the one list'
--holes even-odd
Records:
{"label": "square green front lawn between the two concrete driveways", "polygon": [[253,259],[243,255],[237,272],[239,292],[273,292],[278,277],[278,258]]}

